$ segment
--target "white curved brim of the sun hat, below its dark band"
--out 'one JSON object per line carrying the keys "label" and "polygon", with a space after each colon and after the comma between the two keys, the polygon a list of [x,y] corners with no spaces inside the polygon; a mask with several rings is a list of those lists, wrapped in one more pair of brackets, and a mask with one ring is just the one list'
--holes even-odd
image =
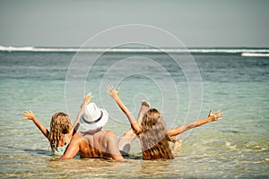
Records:
{"label": "white curved brim of the sun hat, below its dark band", "polygon": [[100,121],[95,124],[86,124],[84,120],[82,119],[83,115],[81,116],[80,126],[84,129],[84,131],[94,130],[99,127],[103,127],[105,124],[108,123],[108,112],[103,108],[100,108],[100,110],[102,111],[103,116],[100,119]]}

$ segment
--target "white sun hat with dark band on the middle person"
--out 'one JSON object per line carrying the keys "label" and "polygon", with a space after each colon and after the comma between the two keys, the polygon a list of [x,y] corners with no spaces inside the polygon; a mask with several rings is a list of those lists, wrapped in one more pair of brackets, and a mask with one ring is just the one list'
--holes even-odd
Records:
{"label": "white sun hat with dark band on the middle person", "polygon": [[108,123],[108,112],[99,108],[95,103],[88,104],[83,112],[80,125],[85,131],[94,130],[103,127]]}

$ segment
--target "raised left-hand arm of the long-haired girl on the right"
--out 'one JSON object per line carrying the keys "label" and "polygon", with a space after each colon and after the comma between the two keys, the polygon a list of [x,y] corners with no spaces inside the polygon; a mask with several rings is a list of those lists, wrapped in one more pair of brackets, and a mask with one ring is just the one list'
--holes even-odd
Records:
{"label": "raised left-hand arm of the long-haired girl on the right", "polygon": [[119,89],[115,90],[112,86],[108,86],[108,94],[115,99],[117,106],[120,107],[120,109],[126,114],[131,127],[133,128],[134,132],[139,132],[140,127],[139,124],[134,119],[134,115],[129,111],[129,109],[125,106],[125,104],[121,101],[121,99],[118,97]]}

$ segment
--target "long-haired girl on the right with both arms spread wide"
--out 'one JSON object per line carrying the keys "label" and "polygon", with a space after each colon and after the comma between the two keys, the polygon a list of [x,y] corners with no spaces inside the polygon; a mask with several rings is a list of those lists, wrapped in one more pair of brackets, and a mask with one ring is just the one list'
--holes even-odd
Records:
{"label": "long-haired girl on the right with both arms spread wide", "polygon": [[108,94],[115,99],[118,107],[120,107],[126,114],[134,133],[136,133],[140,139],[143,159],[173,159],[172,151],[169,148],[169,141],[174,141],[172,140],[173,136],[200,125],[217,121],[221,119],[221,116],[223,115],[220,111],[213,114],[212,110],[210,110],[207,118],[169,130],[165,125],[161,113],[157,109],[151,108],[145,101],[143,101],[143,103],[146,104],[148,110],[143,109],[144,113],[140,113],[143,115],[142,120],[139,120],[140,117],[138,117],[138,120],[136,121],[134,116],[119,98],[118,92],[119,90],[115,90],[112,86],[108,86]]}

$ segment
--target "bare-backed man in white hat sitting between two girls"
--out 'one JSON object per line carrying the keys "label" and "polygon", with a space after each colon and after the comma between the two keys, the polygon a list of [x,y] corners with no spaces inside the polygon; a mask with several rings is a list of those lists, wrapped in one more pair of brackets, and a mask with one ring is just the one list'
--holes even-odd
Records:
{"label": "bare-backed man in white hat sitting between two girls", "polygon": [[84,109],[80,125],[85,132],[74,134],[64,156],[60,159],[74,158],[80,153],[81,158],[113,158],[125,161],[117,147],[117,137],[112,131],[101,131],[108,122],[108,112],[90,103]]}

